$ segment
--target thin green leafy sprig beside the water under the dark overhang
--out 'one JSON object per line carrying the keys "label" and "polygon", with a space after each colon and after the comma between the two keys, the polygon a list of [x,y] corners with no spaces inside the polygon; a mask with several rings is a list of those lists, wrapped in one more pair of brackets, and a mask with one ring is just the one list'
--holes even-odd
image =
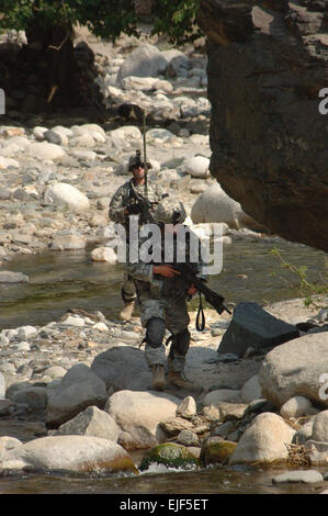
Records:
{"label": "thin green leafy sprig beside the water under the dark overhang", "polygon": [[[320,277],[317,282],[312,282],[307,279],[307,266],[295,267],[292,263],[289,263],[282,257],[280,250],[274,247],[271,249],[271,255],[276,256],[282,267],[290,270],[294,276],[296,276],[299,282],[299,295],[304,298],[305,306],[313,305],[314,307],[323,307],[323,296],[328,294],[328,261],[326,261],[327,272],[324,277]],[[271,273],[272,276],[276,276],[274,272]],[[280,278],[284,282],[287,282],[284,278]]]}

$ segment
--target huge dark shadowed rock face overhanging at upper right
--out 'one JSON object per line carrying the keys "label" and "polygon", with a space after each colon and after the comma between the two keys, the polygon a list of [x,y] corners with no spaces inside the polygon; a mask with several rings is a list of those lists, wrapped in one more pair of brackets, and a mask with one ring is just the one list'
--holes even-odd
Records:
{"label": "huge dark shadowed rock face overhanging at upper right", "polygon": [[204,0],[199,23],[211,173],[272,232],[328,251],[328,2]]}

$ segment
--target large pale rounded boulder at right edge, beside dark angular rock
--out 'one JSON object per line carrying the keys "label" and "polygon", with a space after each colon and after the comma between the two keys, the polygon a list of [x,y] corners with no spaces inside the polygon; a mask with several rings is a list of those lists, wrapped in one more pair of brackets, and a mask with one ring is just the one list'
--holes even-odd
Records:
{"label": "large pale rounded boulder at right edge, beside dark angular rock", "polygon": [[321,379],[328,371],[328,332],[307,334],[272,349],[259,370],[263,397],[279,408],[293,396],[328,406]]}

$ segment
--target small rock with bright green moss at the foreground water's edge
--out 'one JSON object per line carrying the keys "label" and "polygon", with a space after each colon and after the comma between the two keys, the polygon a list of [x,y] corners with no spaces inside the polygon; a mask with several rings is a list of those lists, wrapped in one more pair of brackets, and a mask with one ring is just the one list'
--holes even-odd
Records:
{"label": "small rock with bright green moss at the foreground water's edge", "polygon": [[165,464],[168,468],[191,469],[199,465],[197,458],[185,446],[165,442],[151,448],[144,457],[139,470],[144,471],[150,464]]}

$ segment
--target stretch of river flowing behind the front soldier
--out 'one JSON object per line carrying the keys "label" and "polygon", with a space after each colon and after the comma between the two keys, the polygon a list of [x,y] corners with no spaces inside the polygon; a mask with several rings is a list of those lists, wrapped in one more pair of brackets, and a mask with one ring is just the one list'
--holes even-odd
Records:
{"label": "stretch of river flowing behind the front soldier", "polygon": [[[283,268],[279,258],[270,254],[273,247],[294,266],[307,266],[310,281],[320,281],[327,260],[325,253],[282,239],[244,239],[224,247],[223,271],[210,277],[208,285],[223,294],[226,302],[236,304],[253,301],[263,305],[301,296],[297,274]],[[122,266],[91,261],[90,249],[23,255],[1,269],[23,272],[30,282],[0,283],[0,329],[26,324],[41,326],[56,321],[68,309],[99,310],[111,318],[122,305]],[[196,301],[191,306],[195,304]]]}

